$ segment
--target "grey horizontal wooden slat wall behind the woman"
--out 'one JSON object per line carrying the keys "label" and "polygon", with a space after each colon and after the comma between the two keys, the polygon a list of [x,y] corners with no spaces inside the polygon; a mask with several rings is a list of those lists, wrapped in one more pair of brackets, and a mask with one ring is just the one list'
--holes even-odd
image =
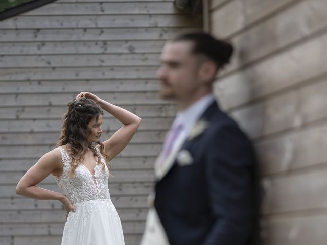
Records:
{"label": "grey horizontal wooden slat wall behind the woman", "polygon": [[[139,244],[153,164],[175,116],[158,98],[156,70],[165,41],[201,30],[202,17],[173,0],[61,0],[0,22],[0,244],[60,244],[58,201],[18,197],[17,181],[54,148],[66,105],[91,91],[143,118],[112,162],[109,181],[127,245]],[[121,127],[104,115],[102,139]],[[60,191],[53,176],[41,187]]]}

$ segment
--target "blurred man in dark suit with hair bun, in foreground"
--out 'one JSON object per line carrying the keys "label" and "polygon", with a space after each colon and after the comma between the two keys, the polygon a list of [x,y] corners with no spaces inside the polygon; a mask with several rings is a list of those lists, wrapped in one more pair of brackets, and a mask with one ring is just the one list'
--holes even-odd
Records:
{"label": "blurred man in dark suit with hair bun, in foreground", "polygon": [[255,159],[248,138],[212,94],[233,48],[205,33],[166,43],[160,96],[178,113],[155,162],[142,245],[249,245],[256,224]]}

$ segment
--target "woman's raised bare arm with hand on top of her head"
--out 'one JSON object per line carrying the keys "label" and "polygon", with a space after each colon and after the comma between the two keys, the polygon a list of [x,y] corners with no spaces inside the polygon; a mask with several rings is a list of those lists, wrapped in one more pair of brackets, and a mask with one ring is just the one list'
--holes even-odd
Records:
{"label": "woman's raised bare arm with hand on top of her head", "polygon": [[132,139],[139,124],[141,124],[141,118],[121,107],[100,99],[92,93],[81,92],[77,95],[77,99],[79,97],[86,97],[94,100],[103,110],[109,112],[124,125],[108,140],[102,142],[104,145],[104,153],[109,157],[110,161],[118,155]]}

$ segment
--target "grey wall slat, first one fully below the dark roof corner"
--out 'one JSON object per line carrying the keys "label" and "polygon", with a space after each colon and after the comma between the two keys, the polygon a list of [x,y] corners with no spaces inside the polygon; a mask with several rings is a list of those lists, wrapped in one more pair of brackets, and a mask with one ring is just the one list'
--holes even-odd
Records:
{"label": "grey wall slat, first one fully below the dark roof corner", "polygon": [[0,42],[165,40],[198,28],[96,28],[0,30]]}

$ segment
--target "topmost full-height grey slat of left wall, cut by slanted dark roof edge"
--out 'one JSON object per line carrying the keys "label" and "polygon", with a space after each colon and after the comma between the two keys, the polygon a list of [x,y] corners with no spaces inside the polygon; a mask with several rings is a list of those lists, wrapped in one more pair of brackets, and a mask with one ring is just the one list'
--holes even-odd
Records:
{"label": "topmost full-height grey slat of left wall, cut by slanted dark roof edge", "polygon": [[51,3],[24,15],[102,15],[179,13],[172,2]]}

